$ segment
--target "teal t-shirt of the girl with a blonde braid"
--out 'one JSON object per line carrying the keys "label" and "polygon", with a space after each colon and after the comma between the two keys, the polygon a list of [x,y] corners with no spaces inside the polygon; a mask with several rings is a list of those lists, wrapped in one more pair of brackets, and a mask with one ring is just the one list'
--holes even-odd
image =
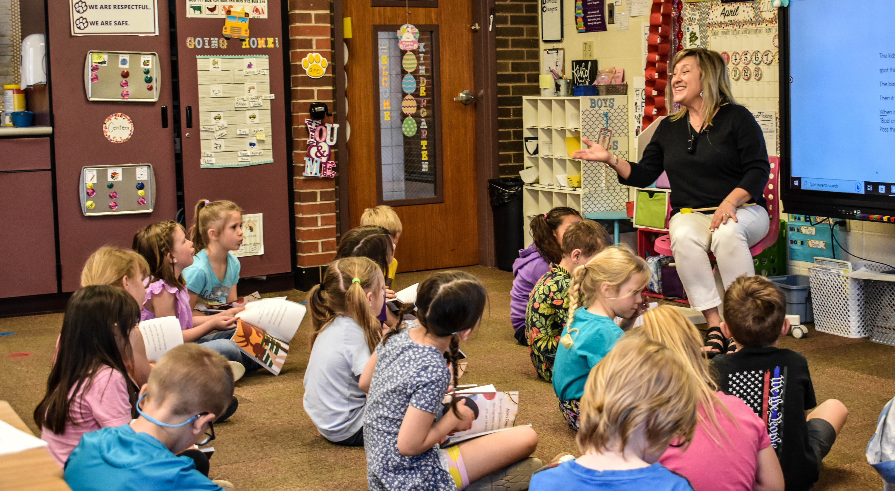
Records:
{"label": "teal t-shirt of the girl with a blonde braid", "polygon": [[[566,348],[562,343],[567,332],[572,332],[575,341],[572,348]],[[559,336],[557,357],[553,362],[553,392],[557,397],[563,401],[581,399],[591,368],[609,353],[624,333],[609,317],[591,314],[584,307],[576,308],[575,319],[566,324]]]}

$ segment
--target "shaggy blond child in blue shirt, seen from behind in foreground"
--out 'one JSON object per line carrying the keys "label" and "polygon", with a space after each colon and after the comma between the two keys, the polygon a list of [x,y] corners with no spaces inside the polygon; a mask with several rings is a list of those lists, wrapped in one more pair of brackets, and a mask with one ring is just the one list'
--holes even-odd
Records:
{"label": "shaggy blond child in blue shirt, seen from behind in foreground", "polygon": [[584,455],[535,473],[529,489],[690,491],[656,461],[673,440],[693,437],[695,382],[670,349],[626,334],[584,385],[577,437]]}

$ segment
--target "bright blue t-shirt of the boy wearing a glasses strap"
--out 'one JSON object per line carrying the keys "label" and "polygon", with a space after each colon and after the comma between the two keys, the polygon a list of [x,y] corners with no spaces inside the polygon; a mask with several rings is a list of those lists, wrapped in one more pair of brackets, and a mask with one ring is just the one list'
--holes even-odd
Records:
{"label": "bright blue t-shirt of the boy wearing a glasses strap", "polygon": [[72,491],[221,489],[196,470],[191,458],[177,457],[155,436],[134,433],[130,425],[81,436],[65,462],[65,482]]}

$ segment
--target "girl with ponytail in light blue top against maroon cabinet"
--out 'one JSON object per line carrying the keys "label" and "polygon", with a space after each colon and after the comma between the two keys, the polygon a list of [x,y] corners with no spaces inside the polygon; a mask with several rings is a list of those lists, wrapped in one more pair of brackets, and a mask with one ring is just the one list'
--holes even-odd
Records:
{"label": "girl with ponytail in light blue top against maroon cabinet", "polygon": [[240,263],[230,251],[243,244],[243,210],[227,200],[199,200],[190,240],[198,251],[192,264],[183,270],[191,308],[199,300],[206,306],[234,302]]}

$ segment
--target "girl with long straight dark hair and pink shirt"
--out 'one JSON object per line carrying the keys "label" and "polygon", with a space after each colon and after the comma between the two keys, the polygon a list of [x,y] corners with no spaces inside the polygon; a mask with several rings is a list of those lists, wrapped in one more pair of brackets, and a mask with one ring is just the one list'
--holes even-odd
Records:
{"label": "girl with long straight dark hair and pink shirt", "polygon": [[34,409],[40,438],[60,465],[81,435],[131,420],[137,387],[127,374],[127,340],[139,322],[140,307],[124,289],[92,285],[69,299],[47,392]]}

